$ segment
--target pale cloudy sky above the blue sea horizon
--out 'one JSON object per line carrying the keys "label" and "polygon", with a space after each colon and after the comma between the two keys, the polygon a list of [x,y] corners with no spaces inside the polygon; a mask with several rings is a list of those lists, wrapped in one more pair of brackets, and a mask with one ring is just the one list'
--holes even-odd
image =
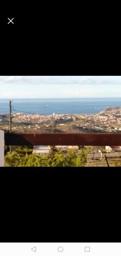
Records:
{"label": "pale cloudy sky above the blue sea horizon", "polygon": [[121,76],[0,76],[0,98],[121,97]]}

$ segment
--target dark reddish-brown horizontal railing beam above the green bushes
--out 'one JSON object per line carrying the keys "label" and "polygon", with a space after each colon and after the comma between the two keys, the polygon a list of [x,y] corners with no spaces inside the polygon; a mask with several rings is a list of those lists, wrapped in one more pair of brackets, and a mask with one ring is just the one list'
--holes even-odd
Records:
{"label": "dark reddish-brown horizontal railing beam above the green bushes", "polygon": [[6,133],[5,145],[119,146],[121,133]]}

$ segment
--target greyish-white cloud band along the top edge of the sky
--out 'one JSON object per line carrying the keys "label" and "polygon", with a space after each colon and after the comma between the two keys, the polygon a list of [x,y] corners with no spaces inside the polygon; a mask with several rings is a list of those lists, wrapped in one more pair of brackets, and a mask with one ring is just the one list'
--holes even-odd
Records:
{"label": "greyish-white cloud band along the top edge of the sky", "polygon": [[36,84],[121,84],[121,77],[97,76],[0,76],[1,83]]}

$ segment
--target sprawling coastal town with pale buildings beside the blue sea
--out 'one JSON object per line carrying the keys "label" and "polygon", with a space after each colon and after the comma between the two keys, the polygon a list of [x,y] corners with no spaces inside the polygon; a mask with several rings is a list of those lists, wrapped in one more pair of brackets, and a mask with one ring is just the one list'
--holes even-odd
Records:
{"label": "sprawling coastal town with pale buildings beside the blue sea", "polygon": [[[9,129],[9,115],[0,115],[1,129]],[[121,107],[112,107],[98,114],[12,115],[13,132],[121,132]]]}

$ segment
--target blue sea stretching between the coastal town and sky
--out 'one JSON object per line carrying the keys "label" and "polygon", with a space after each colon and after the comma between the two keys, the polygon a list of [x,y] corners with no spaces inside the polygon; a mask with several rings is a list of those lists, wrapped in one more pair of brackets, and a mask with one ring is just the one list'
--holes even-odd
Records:
{"label": "blue sea stretching between the coastal town and sky", "polygon": [[[121,106],[121,98],[13,99],[12,105],[12,113],[96,114],[107,106]],[[0,113],[9,113],[9,99],[0,99]]]}

